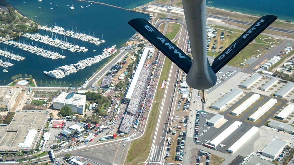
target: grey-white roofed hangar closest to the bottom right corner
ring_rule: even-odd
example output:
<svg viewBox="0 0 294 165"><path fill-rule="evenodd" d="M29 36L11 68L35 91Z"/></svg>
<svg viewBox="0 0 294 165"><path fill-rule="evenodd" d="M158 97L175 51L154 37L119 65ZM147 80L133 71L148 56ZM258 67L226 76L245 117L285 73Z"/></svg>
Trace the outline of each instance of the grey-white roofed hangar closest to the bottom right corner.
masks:
<svg viewBox="0 0 294 165"><path fill-rule="evenodd" d="M270 144L265 146L263 150L261 150L262 155L271 159L275 159L280 154L280 152L283 151L286 144L287 142L275 139L270 142Z"/></svg>

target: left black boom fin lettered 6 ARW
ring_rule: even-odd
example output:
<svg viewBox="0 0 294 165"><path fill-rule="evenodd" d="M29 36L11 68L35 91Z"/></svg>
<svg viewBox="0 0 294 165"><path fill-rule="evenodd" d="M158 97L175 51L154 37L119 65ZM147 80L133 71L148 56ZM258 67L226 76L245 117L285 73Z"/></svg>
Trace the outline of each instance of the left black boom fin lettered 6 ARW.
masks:
<svg viewBox="0 0 294 165"><path fill-rule="evenodd" d="M192 65L191 58L180 48L175 46L172 41L167 39L148 21L143 18L135 18L130 20L128 23L165 56L167 56L167 58L180 67L180 69L182 69L185 73L189 72Z"/></svg>

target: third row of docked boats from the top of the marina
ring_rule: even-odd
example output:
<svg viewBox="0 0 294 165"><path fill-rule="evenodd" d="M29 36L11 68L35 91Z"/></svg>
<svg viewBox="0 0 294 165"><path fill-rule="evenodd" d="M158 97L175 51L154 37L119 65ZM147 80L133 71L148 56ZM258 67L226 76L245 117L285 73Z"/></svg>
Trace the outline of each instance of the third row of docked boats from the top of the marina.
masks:
<svg viewBox="0 0 294 165"><path fill-rule="evenodd" d="M17 47L19 49L22 49L24 51L28 51L30 53L35 53L36 55L40 55L45 58L51 58L52 60L58 59L58 58L65 58L65 56L60 55L57 52L52 52L49 50L43 50L42 48L36 47L36 46L31 46L31 45L26 45L24 43L19 43L16 41L5 41L3 42L6 45L14 45L14 47Z"/></svg>

